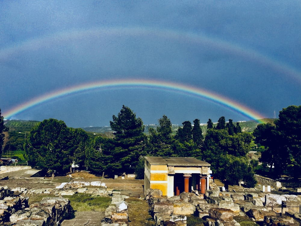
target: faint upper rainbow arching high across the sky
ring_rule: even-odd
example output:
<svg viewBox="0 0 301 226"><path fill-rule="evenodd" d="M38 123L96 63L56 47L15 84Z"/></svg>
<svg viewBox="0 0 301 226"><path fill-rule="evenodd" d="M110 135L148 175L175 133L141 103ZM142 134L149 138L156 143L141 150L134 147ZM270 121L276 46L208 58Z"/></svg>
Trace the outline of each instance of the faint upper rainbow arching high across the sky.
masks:
<svg viewBox="0 0 301 226"><path fill-rule="evenodd" d="M57 43L60 42L68 42L70 40L78 39L90 39L92 37L101 39L106 38L107 36L153 36L168 40L175 40L178 42L211 46L221 51L228 52L229 54L241 56L257 64L270 67L272 70L282 74L283 76L291 77L301 84L301 72L299 70L256 50L201 33L195 34L175 30L160 30L150 27L98 27L86 30L69 30L66 32L54 33L48 36L20 42L19 44L11 47L0 49L0 61L5 61L6 59L11 58L11 56L14 54L22 53L24 51L35 51L41 48L48 48L57 45Z"/></svg>

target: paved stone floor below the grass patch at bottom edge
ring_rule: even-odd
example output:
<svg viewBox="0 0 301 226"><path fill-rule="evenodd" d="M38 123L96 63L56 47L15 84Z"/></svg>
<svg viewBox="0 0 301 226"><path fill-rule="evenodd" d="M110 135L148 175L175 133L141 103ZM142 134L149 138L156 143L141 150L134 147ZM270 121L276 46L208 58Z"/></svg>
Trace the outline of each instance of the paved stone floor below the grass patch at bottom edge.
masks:
<svg viewBox="0 0 301 226"><path fill-rule="evenodd" d="M82 225L101 225L101 220L104 218L104 212L85 211L75 212L75 218L64 220L61 226L82 226Z"/></svg>

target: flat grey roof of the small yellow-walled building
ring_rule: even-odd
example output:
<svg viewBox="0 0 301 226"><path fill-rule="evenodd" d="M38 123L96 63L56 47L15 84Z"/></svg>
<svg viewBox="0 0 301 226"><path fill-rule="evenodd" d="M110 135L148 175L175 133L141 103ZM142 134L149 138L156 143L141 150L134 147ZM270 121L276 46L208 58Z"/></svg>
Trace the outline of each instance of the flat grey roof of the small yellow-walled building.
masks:
<svg viewBox="0 0 301 226"><path fill-rule="evenodd" d="M210 166L208 162L191 157L144 157L151 165Z"/></svg>

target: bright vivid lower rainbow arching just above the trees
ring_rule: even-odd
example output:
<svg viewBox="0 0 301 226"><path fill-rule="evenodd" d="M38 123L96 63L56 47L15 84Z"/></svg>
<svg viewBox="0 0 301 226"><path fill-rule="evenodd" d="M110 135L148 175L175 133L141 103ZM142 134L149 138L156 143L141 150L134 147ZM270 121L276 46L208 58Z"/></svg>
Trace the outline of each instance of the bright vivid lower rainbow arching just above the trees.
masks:
<svg viewBox="0 0 301 226"><path fill-rule="evenodd" d="M65 89L60 89L45 95L39 96L37 98L31 99L28 102L20 104L8 111L3 112L3 117L5 119L10 119L12 116L17 115L28 108L32 108L43 102L47 102L58 97L63 97L69 94L79 93L82 91L92 90L92 89L104 89L104 88L123 88L123 87L148 87L156 89L165 89L174 92L182 92L184 94L203 97L207 100L211 100L214 103L220 104L226 108L230 108L250 119L260 121L260 119L266 118L260 115L256 111L247 108L231 99L220 96L216 93L209 92L205 89L200 89L194 86L183 85L174 82L160 81L160 80L141 80L141 79L123 79L123 80L103 80L91 83L85 83L77 86L68 87Z"/></svg>

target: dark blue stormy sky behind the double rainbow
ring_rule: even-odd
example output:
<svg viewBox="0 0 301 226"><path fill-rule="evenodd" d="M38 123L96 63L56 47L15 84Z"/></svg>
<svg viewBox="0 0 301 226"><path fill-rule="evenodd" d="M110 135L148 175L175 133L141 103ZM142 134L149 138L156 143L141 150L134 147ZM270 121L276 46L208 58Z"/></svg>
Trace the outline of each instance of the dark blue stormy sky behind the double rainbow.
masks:
<svg viewBox="0 0 301 226"><path fill-rule="evenodd" d="M85 83L161 80L206 89L267 118L301 101L301 1L0 1L0 108ZM122 105L144 124L250 120L206 98L115 87L11 119L105 126Z"/></svg>

